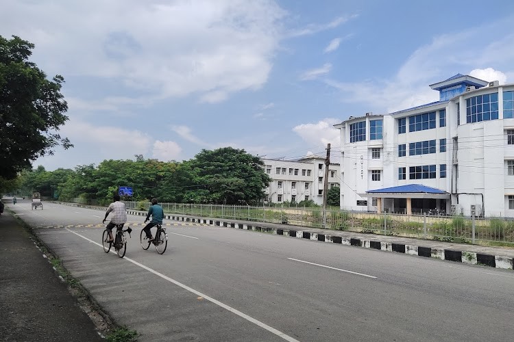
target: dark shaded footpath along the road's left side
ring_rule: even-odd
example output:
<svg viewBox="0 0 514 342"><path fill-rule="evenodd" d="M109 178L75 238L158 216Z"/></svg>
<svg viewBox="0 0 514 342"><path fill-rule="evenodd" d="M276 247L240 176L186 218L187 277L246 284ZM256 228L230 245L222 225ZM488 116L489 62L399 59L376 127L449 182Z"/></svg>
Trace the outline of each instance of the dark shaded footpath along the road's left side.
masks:
<svg viewBox="0 0 514 342"><path fill-rule="evenodd" d="M31 235L0 215L0 341L104 341Z"/></svg>

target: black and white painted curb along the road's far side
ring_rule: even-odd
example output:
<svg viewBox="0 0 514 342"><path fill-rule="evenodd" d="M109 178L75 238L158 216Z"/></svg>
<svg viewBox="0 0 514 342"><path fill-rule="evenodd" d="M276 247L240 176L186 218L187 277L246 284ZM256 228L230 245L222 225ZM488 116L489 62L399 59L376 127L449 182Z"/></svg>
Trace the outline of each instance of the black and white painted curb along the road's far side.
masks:
<svg viewBox="0 0 514 342"><path fill-rule="evenodd" d="M61 203L67 204L67 203ZM89 209L106 210L105 207L92 207L88 205L73 205ZM129 215L145 216L147 213L143 211L127 210ZM167 220L179 222L191 222L197 224L206 224L208 226L221 226L228 228L244 229L247 231L258 231L262 233L271 233L275 235L283 235L287 237L296 237L299 239L309 239L314 241L324 241L332 244L341 244L345 246L356 246L364 248L372 248L375 250L384 250L387 252L399 252L409 255L417 255L419 257L435 258L448 261L456 261L458 263L468 263L472 265L485 265L502 269L514 269L514 261L512 257L504 257L502 255L482 254L477 252L468 252L465 250L450 250L443 248L430 248L417 246L413 244L395 244L393 242L376 241L374 239L363 239L354 237L341 237L339 235L331 235L330 233L320 234L306 230L295 230L294 228L274 228L259 224L243 224L239 222L231 222L227 220L212 220L205 218L191 218L184 215L165 215Z"/></svg>

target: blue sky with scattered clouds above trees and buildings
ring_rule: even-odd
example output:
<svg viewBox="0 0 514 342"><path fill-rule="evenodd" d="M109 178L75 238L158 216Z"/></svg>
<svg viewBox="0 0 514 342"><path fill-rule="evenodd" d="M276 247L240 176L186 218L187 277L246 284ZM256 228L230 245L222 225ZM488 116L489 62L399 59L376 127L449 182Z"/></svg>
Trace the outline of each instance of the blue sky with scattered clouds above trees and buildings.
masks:
<svg viewBox="0 0 514 342"><path fill-rule="evenodd" d="M0 36L62 75L74 147L34 168L326 155L333 125L439 99L457 73L514 83L514 1L2 0Z"/></svg>

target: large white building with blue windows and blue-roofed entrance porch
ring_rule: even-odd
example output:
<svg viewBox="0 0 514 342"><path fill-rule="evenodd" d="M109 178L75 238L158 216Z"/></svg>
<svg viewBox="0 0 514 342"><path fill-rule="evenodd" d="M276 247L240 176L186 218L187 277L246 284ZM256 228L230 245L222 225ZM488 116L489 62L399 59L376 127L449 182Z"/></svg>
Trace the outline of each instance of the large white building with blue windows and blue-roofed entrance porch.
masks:
<svg viewBox="0 0 514 342"><path fill-rule="evenodd" d="M514 84L455 75L439 101L336 124L341 208L514 216Z"/></svg>

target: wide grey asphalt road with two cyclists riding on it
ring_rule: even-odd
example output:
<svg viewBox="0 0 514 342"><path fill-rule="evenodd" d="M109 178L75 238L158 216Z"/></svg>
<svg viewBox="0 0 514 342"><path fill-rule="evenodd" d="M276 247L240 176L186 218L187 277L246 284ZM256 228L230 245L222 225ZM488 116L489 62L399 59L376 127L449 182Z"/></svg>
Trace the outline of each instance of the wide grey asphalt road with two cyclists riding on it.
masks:
<svg viewBox="0 0 514 342"><path fill-rule="evenodd" d="M514 272L233 228L178 224L119 259L105 212L10 206L140 341L511 341ZM175 223L175 222L169 222ZM90 225L90 226L85 226Z"/></svg>

